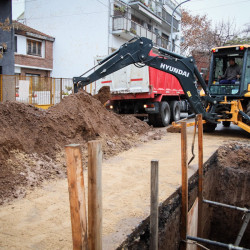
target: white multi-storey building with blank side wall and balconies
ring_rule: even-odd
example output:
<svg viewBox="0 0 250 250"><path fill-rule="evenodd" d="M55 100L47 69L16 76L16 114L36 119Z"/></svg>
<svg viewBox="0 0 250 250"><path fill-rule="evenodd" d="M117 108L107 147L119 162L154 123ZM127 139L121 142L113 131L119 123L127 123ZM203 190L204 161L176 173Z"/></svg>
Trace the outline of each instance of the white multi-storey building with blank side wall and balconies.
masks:
<svg viewBox="0 0 250 250"><path fill-rule="evenodd" d="M25 2L25 24L52 37L51 76L72 78L93 67L134 36L170 49L171 0L36 0ZM179 53L181 14L173 18L173 49Z"/></svg>

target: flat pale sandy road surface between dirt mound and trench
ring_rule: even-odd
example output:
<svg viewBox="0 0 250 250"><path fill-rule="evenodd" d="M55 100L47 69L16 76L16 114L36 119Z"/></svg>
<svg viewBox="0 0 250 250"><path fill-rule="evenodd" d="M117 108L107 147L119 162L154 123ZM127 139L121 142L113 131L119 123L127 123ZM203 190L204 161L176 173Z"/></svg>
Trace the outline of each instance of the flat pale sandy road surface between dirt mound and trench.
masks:
<svg viewBox="0 0 250 250"><path fill-rule="evenodd" d="M189 158L192 136L189 128ZM232 141L249 143L249 137L236 127L205 134L204 161ZM166 133L161 140L145 142L103 162L103 249L115 249L149 215L150 161L159 160L159 202L163 202L180 186L180 156L180 134ZM196 150L189 175L197 162ZM0 248L72 249L67 185L67 179L46 182L25 198L1 206Z"/></svg>

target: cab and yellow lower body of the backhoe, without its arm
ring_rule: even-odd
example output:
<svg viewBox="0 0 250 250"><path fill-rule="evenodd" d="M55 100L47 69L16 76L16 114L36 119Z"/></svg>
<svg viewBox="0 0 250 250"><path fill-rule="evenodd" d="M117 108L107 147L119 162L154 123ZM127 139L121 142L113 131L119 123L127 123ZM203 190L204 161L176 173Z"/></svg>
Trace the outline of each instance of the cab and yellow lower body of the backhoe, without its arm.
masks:
<svg viewBox="0 0 250 250"><path fill-rule="evenodd" d="M222 81L221 76L225 74L230 59L238 65L235 71L240 77L235 75L233 80L230 78ZM207 111L216 113L219 117L217 121L222 122L225 127L234 123L250 133L250 45L212 49L208 89L217 104L208 106ZM208 131L213 131L216 127L214 124L206 126Z"/></svg>

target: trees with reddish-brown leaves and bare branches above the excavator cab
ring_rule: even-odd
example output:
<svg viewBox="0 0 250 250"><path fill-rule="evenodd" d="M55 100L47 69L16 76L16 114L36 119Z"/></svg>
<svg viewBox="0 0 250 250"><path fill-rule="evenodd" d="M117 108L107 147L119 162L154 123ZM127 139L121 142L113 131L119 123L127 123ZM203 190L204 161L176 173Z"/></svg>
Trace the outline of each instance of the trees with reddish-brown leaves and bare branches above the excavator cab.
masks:
<svg viewBox="0 0 250 250"><path fill-rule="evenodd" d="M250 43L250 23L243 29L237 28L235 20L220 21L212 27L206 15L192 16L182 10L181 52L186 56L197 53L209 53L211 48L224 45Z"/></svg>

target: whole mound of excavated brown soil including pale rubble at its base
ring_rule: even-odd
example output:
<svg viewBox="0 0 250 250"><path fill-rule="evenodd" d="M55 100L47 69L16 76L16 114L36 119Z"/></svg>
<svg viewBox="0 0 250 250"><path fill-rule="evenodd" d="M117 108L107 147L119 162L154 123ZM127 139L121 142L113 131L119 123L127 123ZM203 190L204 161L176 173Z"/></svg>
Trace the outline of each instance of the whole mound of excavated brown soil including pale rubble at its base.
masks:
<svg viewBox="0 0 250 250"><path fill-rule="evenodd" d="M119 116L85 92L44 111L18 102L0 104L0 204L44 179L65 176L63 147L101 139L104 157L129 149L150 127ZM84 155L83 155L84 156ZM60 159L59 159L60 158ZM21 191L20 191L21 190Z"/></svg>

